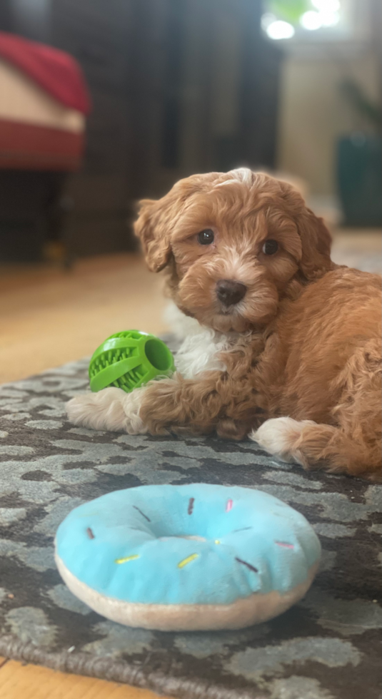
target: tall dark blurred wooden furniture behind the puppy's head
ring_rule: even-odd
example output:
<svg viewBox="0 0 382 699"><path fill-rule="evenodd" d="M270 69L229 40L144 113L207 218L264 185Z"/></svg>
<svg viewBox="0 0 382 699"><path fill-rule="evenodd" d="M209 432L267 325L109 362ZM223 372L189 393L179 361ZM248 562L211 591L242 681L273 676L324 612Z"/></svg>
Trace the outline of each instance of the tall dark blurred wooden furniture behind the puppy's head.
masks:
<svg viewBox="0 0 382 699"><path fill-rule="evenodd" d="M272 167L280 55L261 0L2 0L0 26L69 51L93 111L70 178L76 255L134 247L134 202L181 176ZM1 217L1 210L0 210Z"/></svg>

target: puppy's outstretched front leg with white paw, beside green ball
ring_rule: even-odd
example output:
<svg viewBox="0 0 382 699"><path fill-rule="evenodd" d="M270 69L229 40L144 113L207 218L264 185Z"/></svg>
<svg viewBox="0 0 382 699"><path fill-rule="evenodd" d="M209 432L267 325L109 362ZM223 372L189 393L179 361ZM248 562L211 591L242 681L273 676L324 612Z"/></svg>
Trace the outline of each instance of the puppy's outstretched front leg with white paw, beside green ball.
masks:
<svg viewBox="0 0 382 699"><path fill-rule="evenodd" d="M125 393L106 388L71 399L67 412L71 422L129 434L168 434L190 432L208 434L216 430L221 437L243 439L256 422L251 387L248 396L239 386L236 393L223 372L208 372L201 379L153 381Z"/></svg>

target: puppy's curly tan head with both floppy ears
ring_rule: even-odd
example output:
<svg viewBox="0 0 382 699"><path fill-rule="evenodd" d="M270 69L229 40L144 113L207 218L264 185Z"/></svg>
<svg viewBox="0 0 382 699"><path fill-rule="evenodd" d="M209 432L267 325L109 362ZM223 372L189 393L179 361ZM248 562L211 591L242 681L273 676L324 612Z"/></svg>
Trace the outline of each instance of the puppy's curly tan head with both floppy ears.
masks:
<svg viewBox="0 0 382 699"><path fill-rule="evenodd" d="M142 201L135 232L179 308L221 332L266 324L293 277L331 268L331 236L301 195L245 168L193 175Z"/></svg>

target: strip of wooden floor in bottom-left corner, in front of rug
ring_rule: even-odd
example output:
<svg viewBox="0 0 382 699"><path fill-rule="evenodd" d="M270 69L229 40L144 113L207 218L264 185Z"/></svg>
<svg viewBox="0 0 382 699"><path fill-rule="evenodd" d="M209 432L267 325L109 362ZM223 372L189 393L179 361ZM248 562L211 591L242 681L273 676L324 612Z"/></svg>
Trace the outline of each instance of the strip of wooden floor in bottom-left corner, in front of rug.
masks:
<svg viewBox="0 0 382 699"><path fill-rule="evenodd" d="M1 699L157 699L148 690L67 675L9 660L0 668Z"/></svg>

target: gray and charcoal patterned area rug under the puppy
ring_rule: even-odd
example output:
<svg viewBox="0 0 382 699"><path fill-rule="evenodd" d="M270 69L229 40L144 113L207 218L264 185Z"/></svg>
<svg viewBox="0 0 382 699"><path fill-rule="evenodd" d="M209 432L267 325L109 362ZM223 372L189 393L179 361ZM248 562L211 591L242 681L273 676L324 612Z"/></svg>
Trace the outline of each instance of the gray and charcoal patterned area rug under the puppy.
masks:
<svg viewBox="0 0 382 699"><path fill-rule="evenodd" d="M251 442L92 432L66 421L87 362L0 389L0 655L151 688L179 699L380 697L381 489L306 474ZM323 546L306 598L244 631L126 628L71 595L54 565L60 521L141 484L239 485L301 511Z"/></svg>

